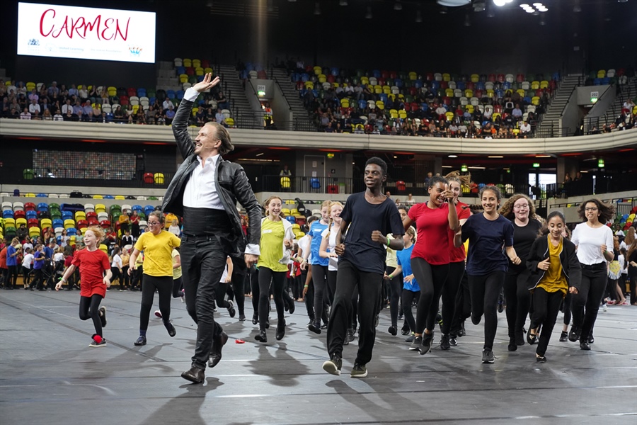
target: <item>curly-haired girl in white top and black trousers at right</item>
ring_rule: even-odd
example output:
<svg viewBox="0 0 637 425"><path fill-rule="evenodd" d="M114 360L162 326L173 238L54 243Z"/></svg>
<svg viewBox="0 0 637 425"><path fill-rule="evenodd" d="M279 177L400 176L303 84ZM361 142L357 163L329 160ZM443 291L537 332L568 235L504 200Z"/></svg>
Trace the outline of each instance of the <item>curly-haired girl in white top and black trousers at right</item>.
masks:
<svg viewBox="0 0 637 425"><path fill-rule="evenodd" d="M573 230L572 242L582 266L582 283L573 297L573 327L568 339L579 339L580 348L590 350L592 329L607 285L607 261L614 259L613 232L606 223L613 220L615 208L592 198L581 203L578 214L584 222Z"/></svg>

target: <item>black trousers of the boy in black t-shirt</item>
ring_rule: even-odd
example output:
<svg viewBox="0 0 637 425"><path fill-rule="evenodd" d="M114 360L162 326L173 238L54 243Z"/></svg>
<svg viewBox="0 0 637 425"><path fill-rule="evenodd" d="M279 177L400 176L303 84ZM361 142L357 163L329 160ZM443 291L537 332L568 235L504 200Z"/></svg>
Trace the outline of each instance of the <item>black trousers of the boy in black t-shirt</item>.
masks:
<svg viewBox="0 0 637 425"><path fill-rule="evenodd" d="M338 262L336 293L328 324L327 346L330 356L343 356L343 341L347 337L352 317L352 295L358 288L358 353L355 363L366 365L372 360L376 339L375 316L381 294L381 273L360 271L350 261Z"/></svg>

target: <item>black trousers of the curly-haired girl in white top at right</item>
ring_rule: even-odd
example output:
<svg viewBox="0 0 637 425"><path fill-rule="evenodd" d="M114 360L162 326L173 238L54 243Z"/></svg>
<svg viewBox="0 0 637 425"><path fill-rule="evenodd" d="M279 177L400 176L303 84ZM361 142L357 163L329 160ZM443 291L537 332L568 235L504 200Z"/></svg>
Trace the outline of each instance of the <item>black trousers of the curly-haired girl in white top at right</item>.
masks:
<svg viewBox="0 0 637 425"><path fill-rule="evenodd" d="M573 297L573 327L580 331L580 342L588 341L595 326L599 304L602 302L607 285L607 271L604 264L597 269L582 264L580 290Z"/></svg>

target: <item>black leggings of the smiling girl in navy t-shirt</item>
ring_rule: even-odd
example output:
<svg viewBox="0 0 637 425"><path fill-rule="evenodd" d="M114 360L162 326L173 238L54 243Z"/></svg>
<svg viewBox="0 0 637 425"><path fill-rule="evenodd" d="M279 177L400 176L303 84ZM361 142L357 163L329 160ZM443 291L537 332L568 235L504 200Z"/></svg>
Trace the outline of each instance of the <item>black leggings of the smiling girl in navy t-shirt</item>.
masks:
<svg viewBox="0 0 637 425"><path fill-rule="evenodd" d="M492 271L481 276L469 275L471 293L471 322L480 323L484 314L484 348L493 348L498 329L498 297L504 280L503 271Z"/></svg>

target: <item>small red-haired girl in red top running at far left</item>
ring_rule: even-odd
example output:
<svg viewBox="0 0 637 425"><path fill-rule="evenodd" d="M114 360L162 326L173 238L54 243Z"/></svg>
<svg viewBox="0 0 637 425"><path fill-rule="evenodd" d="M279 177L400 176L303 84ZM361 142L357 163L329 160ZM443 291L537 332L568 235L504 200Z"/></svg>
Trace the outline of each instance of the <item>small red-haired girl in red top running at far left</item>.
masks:
<svg viewBox="0 0 637 425"><path fill-rule="evenodd" d="M55 290L62 289L67 279L75 268L79 267L81 273L80 308L79 317L82 320L93 319L95 334L89 347L106 346L106 340L102 335L102 328L106 326L106 309L100 307L102 298L106 295L106 288L110 286L110 271L108 256L99 249L101 239L104 237L102 229L96 226L88 227L84 234L86 249L76 251L71 266L64 271L64 276Z"/></svg>

